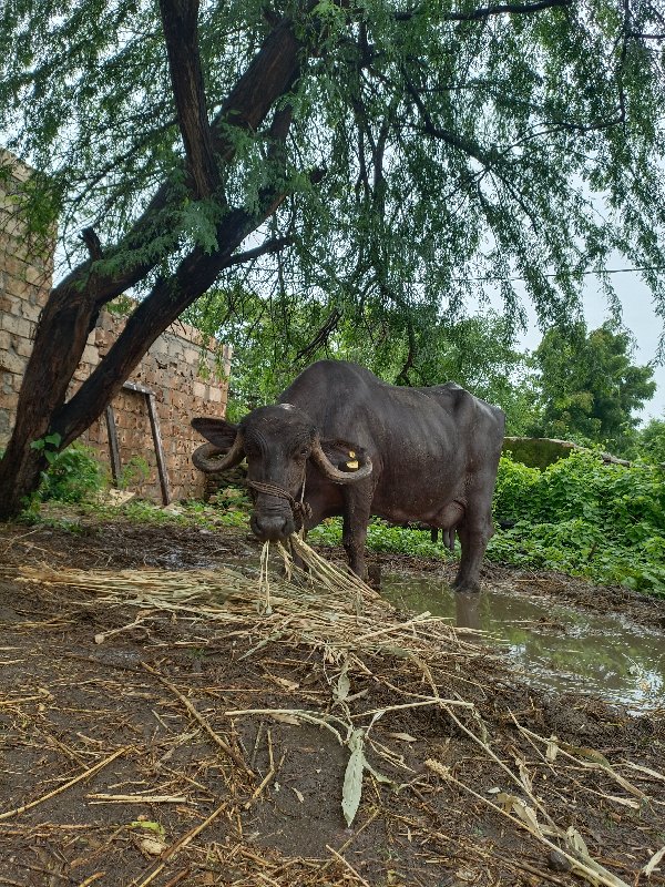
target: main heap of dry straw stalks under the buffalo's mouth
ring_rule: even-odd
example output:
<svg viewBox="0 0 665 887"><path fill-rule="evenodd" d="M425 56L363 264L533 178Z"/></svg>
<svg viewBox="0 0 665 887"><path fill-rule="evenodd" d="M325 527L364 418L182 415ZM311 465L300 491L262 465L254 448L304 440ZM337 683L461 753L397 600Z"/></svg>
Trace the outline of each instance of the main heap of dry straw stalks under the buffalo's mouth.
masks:
<svg viewBox="0 0 665 887"><path fill-rule="evenodd" d="M298 537L298 555L309 568L295 567L279 547L286 577L268 572L267 543L258 580L232 567L212 570L63 570L23 567L4 570L20 582L71 587L95 595L98 604L168 612L180 619L218 624L236 635L258 639L249 656L268 641L304 643L340 662L349 653L419 657L438 661L454 655L488 656L462 638L447 618L421 613L402 621L376 591L349 571L324 560ZM150 615L141 613L126 625L99 633L98 643L123 631L141 628ZM479 632L482 634L482 632Z"/></svg>

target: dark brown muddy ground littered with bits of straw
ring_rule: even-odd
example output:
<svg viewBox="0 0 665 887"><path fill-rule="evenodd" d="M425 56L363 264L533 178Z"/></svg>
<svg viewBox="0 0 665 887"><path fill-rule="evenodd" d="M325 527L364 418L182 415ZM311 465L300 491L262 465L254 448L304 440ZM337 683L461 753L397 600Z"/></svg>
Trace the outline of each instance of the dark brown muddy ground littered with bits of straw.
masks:
<svg viewBox="0 0 665 887"><path fill-rule="evenodd" d="M348 666L345 711L366 727L372 715L360 715L390 708L366 747L391 782L365 772L349 828L349 748L331 731L227 714L334 714L330 651L306 638L256 644L156 611L105 634L136 610L18 575L27 565L209 569L257 554L233 530L0 528L0 887L581 884L553 850L570 827L615 884L665 885L665 859L642 871L665 846L663 711L631 717L598 699L540 692L489 651L454 644L430 664L366 654ZM665 626L665 601L618 589L494 565L484 580ZM460 707L413 704L432 693ZM539 807L545 840L520 826L520 801Z"/></svg>

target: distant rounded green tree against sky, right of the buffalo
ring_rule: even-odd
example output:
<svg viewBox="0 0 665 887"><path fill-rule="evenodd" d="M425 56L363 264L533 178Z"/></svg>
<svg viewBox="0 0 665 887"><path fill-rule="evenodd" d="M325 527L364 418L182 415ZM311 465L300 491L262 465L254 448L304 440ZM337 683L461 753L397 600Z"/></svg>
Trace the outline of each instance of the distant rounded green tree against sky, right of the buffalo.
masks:
<svg viewBox="0 0 665 887"><path fill-rule="evenodd" d="M605 323L587 333L584 322L550 329L534 353L542 415L531 432L630 447L636 410L655 390L651 366L632 363L625 330Z"/></svg>

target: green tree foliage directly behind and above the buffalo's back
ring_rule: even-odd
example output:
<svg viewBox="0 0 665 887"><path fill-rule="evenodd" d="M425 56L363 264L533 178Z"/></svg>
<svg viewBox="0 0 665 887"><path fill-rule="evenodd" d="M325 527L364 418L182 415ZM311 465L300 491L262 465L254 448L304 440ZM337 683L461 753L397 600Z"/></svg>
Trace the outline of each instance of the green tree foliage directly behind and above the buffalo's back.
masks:
<svg viewBox="0 0 665 887"><path fill-rule="evenodd" d="M399 314L358 325L317 302L300 306L286 299L285 305L280 298L260 298L242 289L213 289L185 318L208 337L217 335L233 344L227 409L234 419L274 402L294 374L314 359L354 360L386 381L408 381L403 367L410 337ZM415 384L454 380L478 397L501 404L507 434L525 434L540 417L531 360L516 349L509 322L493 310L451 324L432 318L427 341L418 343L418 360L410 369Z"/></svg>

